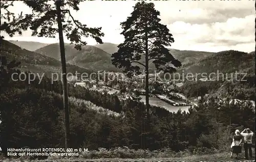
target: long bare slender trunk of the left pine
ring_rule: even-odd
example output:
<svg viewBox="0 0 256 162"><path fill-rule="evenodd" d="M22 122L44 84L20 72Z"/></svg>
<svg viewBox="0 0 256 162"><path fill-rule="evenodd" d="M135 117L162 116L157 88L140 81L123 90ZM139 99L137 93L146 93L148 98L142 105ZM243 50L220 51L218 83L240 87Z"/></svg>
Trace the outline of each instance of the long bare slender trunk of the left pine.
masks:
<svg viewBox="0 0 256 162"><path fill-rule="evenodd" d="M65 58L65 46L63 40L62 20L61 20L61 1L57 1L57 21L59 30L59 48L60 58L62 65L62 83L63 83L63 106L65 111L65 148L69 147L70 141L70 124L69 124L69 98L68 98L68 82L67 82L67 69L66 69L66 58Z"/></svg>

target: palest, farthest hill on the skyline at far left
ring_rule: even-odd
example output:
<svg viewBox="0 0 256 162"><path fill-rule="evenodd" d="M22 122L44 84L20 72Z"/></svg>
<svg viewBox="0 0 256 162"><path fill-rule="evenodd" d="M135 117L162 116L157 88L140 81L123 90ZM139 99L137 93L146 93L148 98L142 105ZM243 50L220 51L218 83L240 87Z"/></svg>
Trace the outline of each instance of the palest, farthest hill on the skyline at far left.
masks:
<svg viewBox="0 0 256 162"><path fill-rule="evenodd" d="M35 51L37 49L40 49L48 45L48 43L40 43L36 41L16 41L16 40L8 40L8 41L17 45L18 47L21 47L29 51Z"/></svg>

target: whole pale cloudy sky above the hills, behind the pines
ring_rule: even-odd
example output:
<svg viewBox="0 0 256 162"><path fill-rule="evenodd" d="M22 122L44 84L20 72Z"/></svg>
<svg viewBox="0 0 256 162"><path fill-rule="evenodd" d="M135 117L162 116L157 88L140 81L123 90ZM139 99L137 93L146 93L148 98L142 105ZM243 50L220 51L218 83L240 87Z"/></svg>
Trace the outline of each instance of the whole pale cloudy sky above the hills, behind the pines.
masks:
<svg viewBox="0 0 256 162"><path fill-rule="evenodd" d="M103 42L119 44L124 38L120 22L131 15L138 1L85 1L79 11L71 11L73 17L89 27L102 27ZM167 25L175 42L172 49L219 52L238 50L251 52L255 49L255 1L147 1L155 4L160 12L161 23ZM15 2L11 12L31 13L22 2ZM31 31L6 40L58 42L57 38L31 37ZM57 35L56 35L57 36ZM96 44L92 38L83 38L88 44ZM65 42L69 42L65 38Z"/></svg>

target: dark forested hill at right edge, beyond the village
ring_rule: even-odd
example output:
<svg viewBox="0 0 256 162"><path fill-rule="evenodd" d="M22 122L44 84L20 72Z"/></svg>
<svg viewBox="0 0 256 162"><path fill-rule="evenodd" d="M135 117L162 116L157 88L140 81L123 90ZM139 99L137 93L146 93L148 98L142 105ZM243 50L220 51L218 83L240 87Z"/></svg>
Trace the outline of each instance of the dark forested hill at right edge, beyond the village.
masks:
<svg viewBox="0 0 256 162"><path fill-rule="evenodd" d="M193 65L184 65L178 73L184 73L184 76L192 73L194 80L205 77L211 79L191 81L191 78L185 78L187 81L179 90L187 97L197 98L208 94L209 97L254 100L256 96L254 52L222 51Z"/></svg>

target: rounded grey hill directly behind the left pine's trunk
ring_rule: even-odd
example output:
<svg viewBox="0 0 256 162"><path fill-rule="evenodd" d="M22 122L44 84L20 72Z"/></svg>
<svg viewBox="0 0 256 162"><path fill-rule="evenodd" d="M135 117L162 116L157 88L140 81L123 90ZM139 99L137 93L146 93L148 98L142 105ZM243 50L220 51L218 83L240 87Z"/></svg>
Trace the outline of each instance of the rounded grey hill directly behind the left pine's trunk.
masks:
<svg viewBox="0 0 256 162"><path fill-rule="evenodd" d="M92 71L106 70L119 71L111 62L111 55L92 45L84 45L81 51L75 45L65 43L66 61L81 67L90 68ZM35 52L60 60L59 44L54 43L40 48Z"/></svg>

